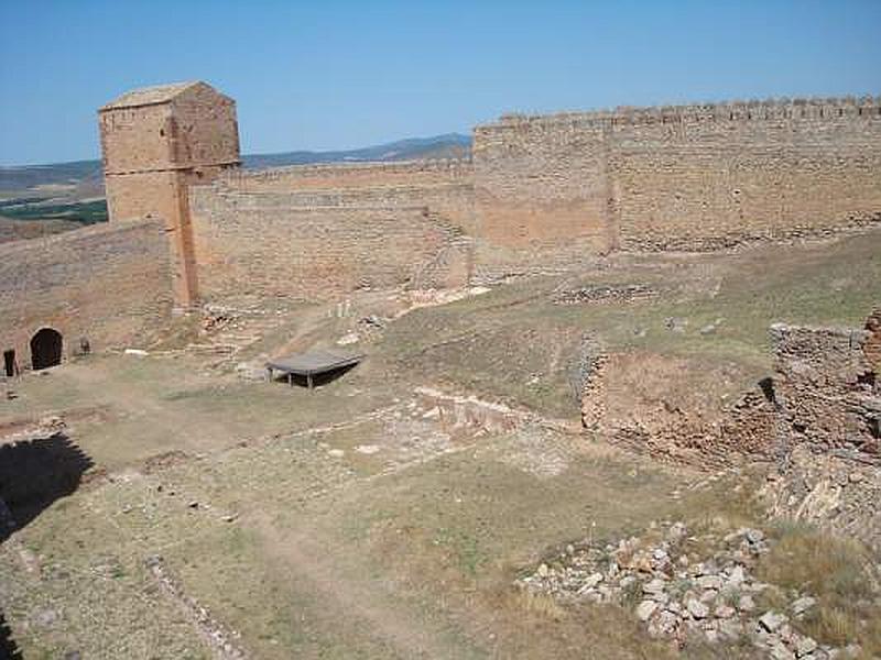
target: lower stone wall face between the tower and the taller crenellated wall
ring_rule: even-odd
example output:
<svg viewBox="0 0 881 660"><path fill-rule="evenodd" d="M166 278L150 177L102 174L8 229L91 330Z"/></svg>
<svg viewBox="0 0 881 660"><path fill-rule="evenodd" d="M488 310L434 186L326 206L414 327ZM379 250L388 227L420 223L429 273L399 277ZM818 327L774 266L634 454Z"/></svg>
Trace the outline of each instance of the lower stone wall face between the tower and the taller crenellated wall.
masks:
<svg viewBox="0 0 881 660"><path fill-rule="evenodd" d="M424 207L294 207L272 196L218 195L213 187L194 187L192 201L199 279L209 301L320 300L406 285L460 237ZM465 284L467 273L460 277Z"/></svg>

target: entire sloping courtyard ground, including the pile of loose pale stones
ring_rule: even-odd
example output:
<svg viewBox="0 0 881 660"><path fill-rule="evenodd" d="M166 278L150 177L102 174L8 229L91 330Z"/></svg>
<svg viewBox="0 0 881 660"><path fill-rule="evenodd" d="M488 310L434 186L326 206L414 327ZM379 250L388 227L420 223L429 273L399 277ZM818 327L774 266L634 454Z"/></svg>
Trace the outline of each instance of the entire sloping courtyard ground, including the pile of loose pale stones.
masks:
<svg viewBox="0 0 881 660"><path fill-rule="evenodd" d="M6 625L26 658L881 657L878 554L850 515L873 479L713 481L581 432L574 396L600 346L622 356L605 369L633 367L610 410L675 421L737 402L771 369L772 322L864 319L880 245L621 255L456 296L246 298L28 374L0 388L0 446L65 479L0 487L17 522L0 650ZM368 358L314 391L265 382L267 356L337 344ZM33 436L53 417L65 428ZM824 516L781 531L741 503L759 484L782 515Z"/></svg>

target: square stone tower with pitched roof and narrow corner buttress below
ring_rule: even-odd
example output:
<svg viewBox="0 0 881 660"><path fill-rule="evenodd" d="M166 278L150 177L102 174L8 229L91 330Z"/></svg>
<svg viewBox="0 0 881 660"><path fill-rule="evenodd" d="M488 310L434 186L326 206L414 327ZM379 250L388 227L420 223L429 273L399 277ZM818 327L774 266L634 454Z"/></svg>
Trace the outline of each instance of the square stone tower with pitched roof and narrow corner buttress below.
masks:
<svg viewBox="0 0 881 660"><path fill-rule="evenodd" d="M198 300L188 188L239 165L236 102L205 82L144 87L98 110L110 221L159 218L178 308Z"/></svg>

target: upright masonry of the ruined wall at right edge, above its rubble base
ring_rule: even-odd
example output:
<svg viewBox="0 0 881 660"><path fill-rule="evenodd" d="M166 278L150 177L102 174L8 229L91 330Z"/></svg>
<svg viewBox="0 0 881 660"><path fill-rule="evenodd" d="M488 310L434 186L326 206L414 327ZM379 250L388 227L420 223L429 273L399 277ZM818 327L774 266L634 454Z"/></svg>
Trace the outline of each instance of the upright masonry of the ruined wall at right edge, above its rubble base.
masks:
<svg viewBox="0 0 881 660"><path fill-rule="evenodd" d="M771 336L781 451L805 444L881 463L881 383L866 353L870 332L775 324Z"/></svg>

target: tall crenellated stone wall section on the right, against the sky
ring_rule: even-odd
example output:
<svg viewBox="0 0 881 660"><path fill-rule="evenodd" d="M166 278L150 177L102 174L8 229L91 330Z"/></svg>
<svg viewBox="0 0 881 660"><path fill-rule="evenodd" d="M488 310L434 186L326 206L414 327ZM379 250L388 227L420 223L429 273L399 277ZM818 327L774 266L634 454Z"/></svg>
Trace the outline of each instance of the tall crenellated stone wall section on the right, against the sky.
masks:
<svg viewBox="0 0 881 660"><path fill-rule="evenodd" d="M706 250L881 220L881 99L512 116L474 138L490 242Z"/></svg>

